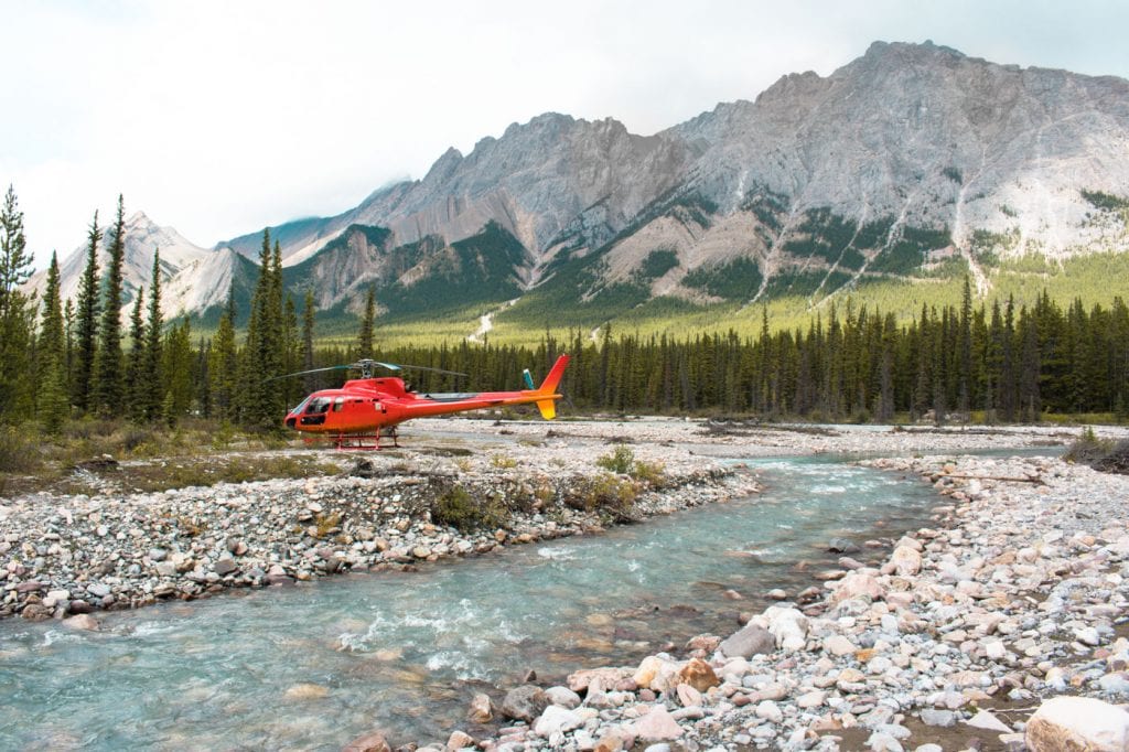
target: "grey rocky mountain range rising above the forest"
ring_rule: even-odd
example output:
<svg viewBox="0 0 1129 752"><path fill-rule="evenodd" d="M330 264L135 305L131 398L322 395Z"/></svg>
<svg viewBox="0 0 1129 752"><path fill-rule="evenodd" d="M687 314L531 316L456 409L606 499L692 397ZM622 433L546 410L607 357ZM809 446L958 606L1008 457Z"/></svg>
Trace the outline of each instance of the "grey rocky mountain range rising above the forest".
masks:
<svg viewBox="0 0 1129 752"><path fill-rule="evenodd" d="M465 304L539 288L590 303L615 286L749 301L911 277L954 255L983 286L1000 259L1129 247L1127 147L1124 79L876 42L828 77L785 76L649 137L539 115L467 155L449 149L422 180L271 234L322 308L375 283L395 313L437 281L487 290ZM143 215L129 233L128 287L159 245L186 312L216 305L237 255L254 259L261 242L208 251ZM64 263L64 295L82 263L81 251Z"/></svg>

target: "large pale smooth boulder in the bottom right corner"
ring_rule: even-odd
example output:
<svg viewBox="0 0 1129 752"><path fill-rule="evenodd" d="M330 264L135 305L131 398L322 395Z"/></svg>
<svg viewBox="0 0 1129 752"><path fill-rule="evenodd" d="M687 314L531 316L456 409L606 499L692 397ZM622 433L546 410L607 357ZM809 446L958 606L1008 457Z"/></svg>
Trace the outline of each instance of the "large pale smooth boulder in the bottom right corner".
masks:
<svg viewBox="0 0 1129 752"><path fill-rule="evenodd" d="M1094 698L1045 700L1027 720L1032 752L1123 752L1129 750L1129 712Z"/></svg>

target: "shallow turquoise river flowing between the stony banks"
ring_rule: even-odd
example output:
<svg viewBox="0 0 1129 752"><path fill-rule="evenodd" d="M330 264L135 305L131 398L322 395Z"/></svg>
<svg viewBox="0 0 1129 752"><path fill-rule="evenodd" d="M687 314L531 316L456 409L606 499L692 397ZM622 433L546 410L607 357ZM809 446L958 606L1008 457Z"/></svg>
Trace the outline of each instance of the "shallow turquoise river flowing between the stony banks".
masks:
<svg viewBox="0 0 1129 752"><path fill-rule="evenodd" d="M937 500L835 458L742 464L763 493L599 535L108 613L98 632L0 622L0 749L339 750L374 728L446 741L475 731L475 691L728 635L768 589L812 585L829 540L898 535Z"/></svg>

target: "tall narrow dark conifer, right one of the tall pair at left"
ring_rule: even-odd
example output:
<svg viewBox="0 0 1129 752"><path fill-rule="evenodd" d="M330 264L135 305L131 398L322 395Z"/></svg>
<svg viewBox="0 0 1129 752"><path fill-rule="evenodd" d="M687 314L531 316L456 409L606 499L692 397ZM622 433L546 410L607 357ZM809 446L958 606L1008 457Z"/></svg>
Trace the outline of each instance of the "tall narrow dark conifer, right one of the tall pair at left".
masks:
<svg viewBox="0 0 1129 752"><path fill-rule="evenodd" d="M122 376L122 265L125 261L125 203L117 195L117 219L110 244L110 264L102 304L102 329L95 353L95 387L91 406L103 414L121 410L125 396Z"/></svg>

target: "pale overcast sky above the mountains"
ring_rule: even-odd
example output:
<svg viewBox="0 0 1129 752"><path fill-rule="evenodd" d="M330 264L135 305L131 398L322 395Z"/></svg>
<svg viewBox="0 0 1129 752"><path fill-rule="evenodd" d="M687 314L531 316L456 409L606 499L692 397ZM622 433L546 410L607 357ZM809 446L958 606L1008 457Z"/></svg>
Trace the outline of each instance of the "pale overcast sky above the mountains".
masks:
<svg viewBox="0 0 1129 752"><path fill-rule="evenodd" d="M211 246L546 111L654 133L875 40L1129 77L1127 35L1113 0L0 0L0 190L40 266L119 193Z"/></svg>

